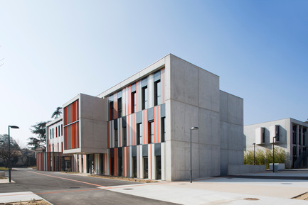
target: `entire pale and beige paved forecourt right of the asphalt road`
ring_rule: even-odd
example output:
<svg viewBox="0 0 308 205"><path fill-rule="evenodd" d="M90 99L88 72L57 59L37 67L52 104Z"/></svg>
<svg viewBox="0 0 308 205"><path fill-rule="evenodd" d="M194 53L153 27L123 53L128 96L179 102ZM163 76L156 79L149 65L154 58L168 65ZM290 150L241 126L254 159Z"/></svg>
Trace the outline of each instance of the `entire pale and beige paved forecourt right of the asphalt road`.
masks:
<svg viewBox="0 0 308 205"><path fill-rule="evenodd" d="M290 177L293 179L289 179ZM308 204L308 201L292 199L308 192L308 178L305 177L308 177L308 170L285 170L197 179L193 183L159 182L96 189L176 204ZM4 200L5 197L1 199Z"/></svg>

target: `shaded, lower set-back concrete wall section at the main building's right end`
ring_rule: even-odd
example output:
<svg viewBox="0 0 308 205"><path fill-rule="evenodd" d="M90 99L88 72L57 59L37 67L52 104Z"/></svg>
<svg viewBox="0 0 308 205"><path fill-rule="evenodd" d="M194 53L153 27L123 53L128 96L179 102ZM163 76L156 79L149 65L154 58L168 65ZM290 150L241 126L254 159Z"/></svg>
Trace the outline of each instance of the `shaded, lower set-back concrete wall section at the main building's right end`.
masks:
<svg viewBox="0 0 308 205"><path fill-rule="evenodd" d="M244 163L243 99L222 91L220 96L221 175L226 175L228 165Z"/></svg>

